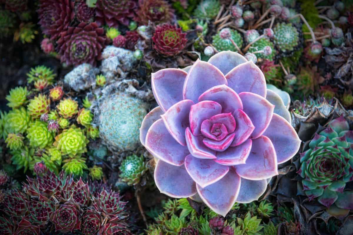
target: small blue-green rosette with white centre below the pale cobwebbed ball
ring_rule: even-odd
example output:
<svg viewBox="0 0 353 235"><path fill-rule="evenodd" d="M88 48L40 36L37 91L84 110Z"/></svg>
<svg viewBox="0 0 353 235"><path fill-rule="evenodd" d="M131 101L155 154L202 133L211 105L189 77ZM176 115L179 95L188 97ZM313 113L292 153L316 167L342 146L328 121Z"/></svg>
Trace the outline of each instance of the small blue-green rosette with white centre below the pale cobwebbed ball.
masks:
<svg viewBox="0 0 353 235"><path fill-rule="evenodd" d="M120 178L128 185L136 185L140 182L141 176L147 171L143 156L131 155L127 156L121 162Z"/></svg>

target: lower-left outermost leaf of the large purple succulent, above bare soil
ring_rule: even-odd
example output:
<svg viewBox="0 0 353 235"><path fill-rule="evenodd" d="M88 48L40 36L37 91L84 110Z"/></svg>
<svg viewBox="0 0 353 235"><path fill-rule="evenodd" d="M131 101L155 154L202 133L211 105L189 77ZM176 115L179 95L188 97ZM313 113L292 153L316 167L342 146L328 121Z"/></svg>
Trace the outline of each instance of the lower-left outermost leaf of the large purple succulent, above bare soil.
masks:
<svg viewBox="0 0 353 235"><path fill-rule="evenodd" d="M196 183L191 179L184 165L173 166L159 160L154 178L159 191L169 197L185 198L197 193Z"/></svg>

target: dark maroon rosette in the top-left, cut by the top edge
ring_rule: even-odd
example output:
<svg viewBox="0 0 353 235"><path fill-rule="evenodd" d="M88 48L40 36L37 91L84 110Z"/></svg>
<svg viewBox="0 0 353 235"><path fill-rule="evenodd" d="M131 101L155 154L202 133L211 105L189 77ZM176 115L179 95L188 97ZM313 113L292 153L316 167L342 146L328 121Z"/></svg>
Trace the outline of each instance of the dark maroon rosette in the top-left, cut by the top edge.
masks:
<svg viewBox="0 0 353 235"><path fill-rule="evenodd" d="M37 12L43 33L57 39L75 18L74 1L40 0Z"/></svg>

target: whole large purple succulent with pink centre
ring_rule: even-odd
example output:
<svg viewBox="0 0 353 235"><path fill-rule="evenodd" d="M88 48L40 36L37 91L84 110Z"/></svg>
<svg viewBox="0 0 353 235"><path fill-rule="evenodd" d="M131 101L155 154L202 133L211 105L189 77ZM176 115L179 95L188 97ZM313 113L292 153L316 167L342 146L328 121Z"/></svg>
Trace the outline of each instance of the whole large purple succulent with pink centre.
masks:
<svg viewBox="0 0 353 235"><path fill-rule="evenodd" d="M159 159L155 182L170 197L202 200L225 216L235 202L258 199L277 164L299 149L294 128L266 99L278 95L238 53L198 60L188 72L162 69L151 83L159 106L144 118L140 141Z"/></svg>

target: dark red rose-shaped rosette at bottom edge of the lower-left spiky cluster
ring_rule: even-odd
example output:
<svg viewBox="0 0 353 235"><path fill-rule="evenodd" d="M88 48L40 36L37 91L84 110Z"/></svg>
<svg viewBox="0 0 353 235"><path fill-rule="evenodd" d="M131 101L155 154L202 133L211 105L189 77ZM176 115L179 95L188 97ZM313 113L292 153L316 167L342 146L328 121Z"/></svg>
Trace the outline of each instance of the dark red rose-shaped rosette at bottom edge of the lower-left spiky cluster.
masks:
<svg viewBox="0 0 353 235"><path fill-rule="evenodd" d="M50 215L50 221L54 224L55 230L62 233L72 232L80 229L80 206L74 202L65 202L56 205L55 211Z"/></svg>

